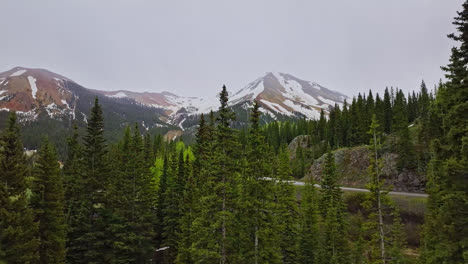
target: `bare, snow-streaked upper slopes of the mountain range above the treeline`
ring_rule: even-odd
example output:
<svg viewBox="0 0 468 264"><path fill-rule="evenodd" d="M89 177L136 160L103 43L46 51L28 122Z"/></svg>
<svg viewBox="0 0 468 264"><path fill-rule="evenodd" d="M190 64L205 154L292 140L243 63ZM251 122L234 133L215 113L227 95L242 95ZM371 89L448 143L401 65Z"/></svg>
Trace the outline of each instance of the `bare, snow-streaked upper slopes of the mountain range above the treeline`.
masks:
<svg viewBox="0 0 468 264"><path fill-rule="evenodd" d="M35 121L39 115L56 120L75 120L79 96L69 88L77 82L46 69L14 67L0 73L0 111L16 111L20 121ZM84 88L90 93L116 101L135 103L159 111L158 119L167 125L180 127L193 115L216 111L217 100L179 96L172 92L135 92L129 90L105 91ZM230 96L231 107L252 107L254 101L262 112L273 119L278 116L318 118L335 104L341 105L348 97L316 82L305 81L291 74L266 72Z"/></svg>

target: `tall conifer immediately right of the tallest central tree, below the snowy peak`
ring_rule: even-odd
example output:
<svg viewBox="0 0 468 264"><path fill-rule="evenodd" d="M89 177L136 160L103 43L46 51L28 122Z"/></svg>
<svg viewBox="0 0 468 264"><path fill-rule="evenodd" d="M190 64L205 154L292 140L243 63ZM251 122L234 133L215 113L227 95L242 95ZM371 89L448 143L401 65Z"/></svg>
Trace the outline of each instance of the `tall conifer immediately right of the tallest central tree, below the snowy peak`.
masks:
<svg viewBox="0 0 468 264"><path fill-rule="evenodd" d="M241 180L238 216L241 226L240 258L250 263L278 263L278 232L275 219L274 181L271 168L272 155L260 130L258 103L250 116L251 126L246 147L245 170Z"/></svg>

